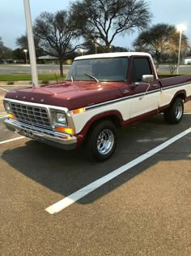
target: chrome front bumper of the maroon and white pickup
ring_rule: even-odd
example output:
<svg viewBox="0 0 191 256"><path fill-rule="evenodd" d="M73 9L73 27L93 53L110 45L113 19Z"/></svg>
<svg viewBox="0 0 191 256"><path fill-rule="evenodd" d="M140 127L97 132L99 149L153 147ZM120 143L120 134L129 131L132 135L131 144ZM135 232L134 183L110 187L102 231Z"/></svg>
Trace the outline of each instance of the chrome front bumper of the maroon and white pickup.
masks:
<svg viewBox="0 0 191 256"><path fill-rule="evenodd" d="M77 147L77 138L70 137L62 132L55 132L45 128L36 128L28 124L23 124L15 119L4 121L6 128L12 132L17 132L22 136L29 137L35 141L53 145L63 150L73 150Z"/></svg>

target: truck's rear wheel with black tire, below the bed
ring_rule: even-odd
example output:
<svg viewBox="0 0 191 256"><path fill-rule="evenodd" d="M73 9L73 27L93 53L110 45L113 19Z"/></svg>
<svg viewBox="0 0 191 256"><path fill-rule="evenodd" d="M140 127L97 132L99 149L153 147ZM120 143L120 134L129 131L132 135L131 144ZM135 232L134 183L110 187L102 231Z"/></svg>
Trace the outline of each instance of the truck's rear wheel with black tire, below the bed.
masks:
<svg viewBox="0 0 191 256"><path fill-rule="evenodd" d="M184 114L184 104L181 98L176 98L172 105L163 113L164 119L168 124L180 123Z"/></svg>

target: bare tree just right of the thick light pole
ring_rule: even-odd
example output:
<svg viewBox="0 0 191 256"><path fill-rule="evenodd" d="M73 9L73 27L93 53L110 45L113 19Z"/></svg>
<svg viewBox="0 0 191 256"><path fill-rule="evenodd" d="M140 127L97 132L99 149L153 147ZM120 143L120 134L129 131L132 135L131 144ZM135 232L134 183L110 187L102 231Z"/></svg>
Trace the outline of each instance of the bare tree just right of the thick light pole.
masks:
<svg viewBox="0 0 191 256"><path fill-rule="evenodd" d="M45 53L59 59L60 75L63 76L62 65L66 54L70 54L81 46L81 44L71 45L71 41L79 37L79 33L77 33L70 12L41 13L35 20L33 31L39 38L39 46Z"/></svg>

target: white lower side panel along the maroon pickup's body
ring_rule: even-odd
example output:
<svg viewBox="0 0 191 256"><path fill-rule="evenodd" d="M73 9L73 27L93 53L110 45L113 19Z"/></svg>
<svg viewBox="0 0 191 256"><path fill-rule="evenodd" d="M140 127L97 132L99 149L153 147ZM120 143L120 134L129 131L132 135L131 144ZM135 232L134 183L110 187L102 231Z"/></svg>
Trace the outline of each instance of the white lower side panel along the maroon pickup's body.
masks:
<svg viewBox="0 0 191 256"><path fill-rule="evenodd" d="M165 90L158 90L156 93L146 93L146 95L137 95L137 97L127 97L119 102L108 102L108 105L95 106L92 109L86 109L85 112L72 115L75 126L75 133L82 131L87 122L94 116L106 111L118 111L124 121L144 115L150 111L155 111L159 107L167 106L178 90L185 90L186 95L191 96L191 84L172 87Z"/></svg>

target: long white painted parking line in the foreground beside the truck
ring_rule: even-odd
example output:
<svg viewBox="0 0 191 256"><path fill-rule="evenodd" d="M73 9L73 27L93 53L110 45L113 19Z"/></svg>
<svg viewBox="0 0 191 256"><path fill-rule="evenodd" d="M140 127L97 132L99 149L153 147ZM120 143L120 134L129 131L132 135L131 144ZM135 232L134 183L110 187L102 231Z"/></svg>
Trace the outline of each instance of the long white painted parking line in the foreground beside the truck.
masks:
<svg viewBox="0 0 191 256"><path fill-rule="evenodd" d="M79 189L78 191L72 193L69 197L66 197L61 201L54 203L52 206L47 207L45 210L48 211L51 215L58 213L59 211L65 209L74 202L79 201L79 199L85 197L88 193L91 193L95 189L100 188L100 186L107 183L109 180L112 180L115 177L121 175L121 173L128 171L130 168L138 165L138 163L142 163L147 158L151 158L151 156L165 149L166 147L168 147L168 145L171 145L173 142L179 140L181 137L184 137L185 135L189 134L189 132L191 132L191 128L185 130L185 132L181 132L180 134L176 135L176 137L172 137L172 139L155 147L155 149L148 151L146 154L142 154L140 157L135 158L133 161L125 164L124 166L118 168L117 170L110 172L108 175L103 176L99 180L96 180L91 184L88 184L87 186L83 187L83 189Z"/></svg>

